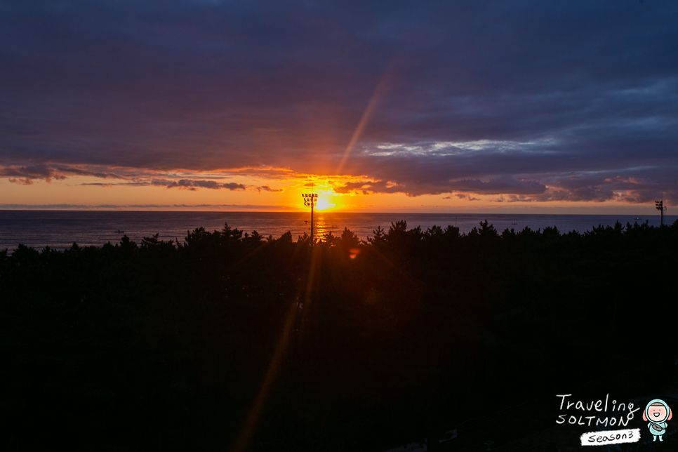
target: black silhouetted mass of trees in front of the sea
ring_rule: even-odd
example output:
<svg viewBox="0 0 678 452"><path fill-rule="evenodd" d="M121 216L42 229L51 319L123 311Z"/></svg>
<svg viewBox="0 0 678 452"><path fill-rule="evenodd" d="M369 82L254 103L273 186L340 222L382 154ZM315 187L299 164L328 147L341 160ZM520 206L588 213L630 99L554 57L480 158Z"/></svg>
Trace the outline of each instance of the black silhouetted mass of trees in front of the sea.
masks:
<svg viewBox="0 0 678 452"><path fill-rule="evenodd" d="M540 397L512 430L550 427L555 394L675 380L677 251L678 222L19 246L0 446L376 452Z"/></svg>

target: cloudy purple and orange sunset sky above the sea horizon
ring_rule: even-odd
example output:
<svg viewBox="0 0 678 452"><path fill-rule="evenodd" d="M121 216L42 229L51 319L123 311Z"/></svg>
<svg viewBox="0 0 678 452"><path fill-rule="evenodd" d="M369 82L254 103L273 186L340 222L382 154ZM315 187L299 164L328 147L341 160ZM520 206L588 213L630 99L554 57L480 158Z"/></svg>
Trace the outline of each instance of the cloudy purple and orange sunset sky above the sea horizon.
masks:
<svg viewBox="0 0 678 452"><path fill-rule="evenodd" d="M0 208L653 213L678 2L0 0Z"/></svg>

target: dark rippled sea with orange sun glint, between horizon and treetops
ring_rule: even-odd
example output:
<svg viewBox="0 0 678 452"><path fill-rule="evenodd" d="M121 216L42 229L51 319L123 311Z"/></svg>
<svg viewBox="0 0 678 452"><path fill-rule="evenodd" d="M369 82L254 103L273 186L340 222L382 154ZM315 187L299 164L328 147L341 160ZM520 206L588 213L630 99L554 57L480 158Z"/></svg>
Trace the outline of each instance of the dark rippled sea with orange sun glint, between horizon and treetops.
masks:
<svg viewBox="0 0 678 452"><path fill-rule="evenodd" d="M678 219L666 215L665 224ZM232 228L277 238L287 231L297 239L304 232L310 234L310 213L284 212L158 212L158 211L0 211L0 250L12 251L19 244L42 249L50 246L58 250L79 246L102 246L110 241L116 244L127 235L139 243L143 237L159 234L162 240L183 241L187 232L198 227L208 231L221 230L225 223ZM505 229L532 230L557 227L560 232L585 232L598 225L614 225L619 221L648 221L659 225L659 215L634 220L633 215L533 215L483 213L321 213L314 218L317 237L332 233L340 235L344 227L360 239L373 236L377 227L388 230L391 222L405 220L408 229L420 226L426 230L433 225L453 225L467 233L479 222L488 220L501 232Z"/></svg>

